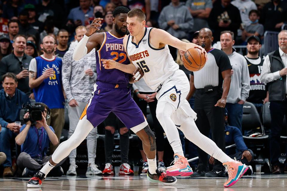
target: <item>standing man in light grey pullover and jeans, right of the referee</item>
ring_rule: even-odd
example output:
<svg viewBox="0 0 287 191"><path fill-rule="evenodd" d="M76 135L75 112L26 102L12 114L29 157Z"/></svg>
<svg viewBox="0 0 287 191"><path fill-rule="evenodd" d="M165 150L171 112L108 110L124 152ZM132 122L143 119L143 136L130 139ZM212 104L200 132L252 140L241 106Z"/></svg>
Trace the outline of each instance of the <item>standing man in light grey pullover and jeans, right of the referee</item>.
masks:
<svg viewBox="0 0 287 191"><path fill-rule="evenodd" d="M234 33L222 31L220 35L222 50L227 54L232 66L230 90L226 100L228 124L242 131L243 104L249 96L250 80L246 59L232 48Z"/></svg>

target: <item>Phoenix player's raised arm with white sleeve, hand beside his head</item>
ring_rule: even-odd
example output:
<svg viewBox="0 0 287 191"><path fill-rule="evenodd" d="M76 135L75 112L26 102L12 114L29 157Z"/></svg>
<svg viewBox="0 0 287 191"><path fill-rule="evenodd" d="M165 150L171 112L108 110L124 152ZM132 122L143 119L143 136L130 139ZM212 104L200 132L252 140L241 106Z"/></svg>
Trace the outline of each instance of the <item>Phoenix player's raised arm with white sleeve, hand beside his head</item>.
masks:
<svg viewBox="0 0 287 191"><path fill-rule="evenodd" d="M88 31L84 35L84 37L80 40L80 42L75 47L73 52L73 59L80 60L87 53L91 52L94 47L97 47L99 44L99 37L102 35L100 33L95 33L97 30L100 30L102 18L94 19L94 21L90 24Z"/></svg>

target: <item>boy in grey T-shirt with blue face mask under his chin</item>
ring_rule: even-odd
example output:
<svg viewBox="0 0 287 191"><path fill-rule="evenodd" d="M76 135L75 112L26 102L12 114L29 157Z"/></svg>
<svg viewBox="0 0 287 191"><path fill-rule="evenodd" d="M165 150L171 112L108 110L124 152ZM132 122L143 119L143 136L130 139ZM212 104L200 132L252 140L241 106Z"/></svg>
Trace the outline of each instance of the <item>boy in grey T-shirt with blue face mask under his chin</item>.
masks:
<svg viewBox="0 0 287 191"><path fill-rule="evenodd" d="M264 35L264 27L262 24L258 23L259 20L259 12L258 10L251 10L249 12L250 24L244 27L242 32L242 40L245 41L250 36L258 36L259 38L263 38Z"/></svg>

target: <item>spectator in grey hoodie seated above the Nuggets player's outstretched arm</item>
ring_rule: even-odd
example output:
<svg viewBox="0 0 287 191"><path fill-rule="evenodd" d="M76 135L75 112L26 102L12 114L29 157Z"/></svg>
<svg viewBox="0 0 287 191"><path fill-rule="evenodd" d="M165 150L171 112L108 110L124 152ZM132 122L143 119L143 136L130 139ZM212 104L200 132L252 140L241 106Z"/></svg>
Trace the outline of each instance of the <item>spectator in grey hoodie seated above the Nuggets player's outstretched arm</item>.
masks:
<svg viewBox="0 0 287 191"><path fill-rule="evenodd" d="M161 11L158 24L162 30L167 31L176 38L188 38L189 32L193 29L193 17L184 3L179 2L179 0L172 0ZM175 59L176 49L170 46L169 48L172 57Z"/></svg>

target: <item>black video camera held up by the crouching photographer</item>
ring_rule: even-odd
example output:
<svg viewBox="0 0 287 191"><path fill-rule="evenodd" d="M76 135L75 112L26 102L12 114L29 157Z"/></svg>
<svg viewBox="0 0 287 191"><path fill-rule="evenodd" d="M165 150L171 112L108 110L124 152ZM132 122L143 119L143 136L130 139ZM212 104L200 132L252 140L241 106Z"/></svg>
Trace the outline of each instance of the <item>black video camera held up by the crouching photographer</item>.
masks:
<svg viewBox="0 0 287 191"><path fill-rule="evenodd" d="M34 105L25 103L22 105L22 108L24 109L24 114L27 112L29 113L29 118L26 118L26 119L23 118L25 123L27 123L28 121L31 121L32 124L36 124L36 121L42 120L42 112L45 111L45 106L42 103L36 103ZM48 110L48 115L49 113L50 113L50 110Z"/></svg>

